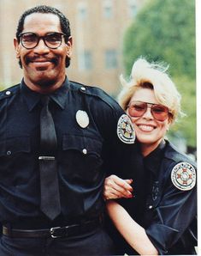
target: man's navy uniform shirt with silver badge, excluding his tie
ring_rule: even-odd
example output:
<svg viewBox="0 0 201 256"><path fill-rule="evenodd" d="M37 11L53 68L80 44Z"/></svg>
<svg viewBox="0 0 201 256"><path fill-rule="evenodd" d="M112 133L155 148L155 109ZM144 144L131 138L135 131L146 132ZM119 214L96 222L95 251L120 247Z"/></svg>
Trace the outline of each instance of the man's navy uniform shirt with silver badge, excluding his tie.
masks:
<svg viewBox="0 0 201 256"><path fill-rule="evenodd" d="M42 229L96 217L103 211L105 175L127 176L133 128L100 88L68 78L50 94L58 148L62 214L49 222L39 210L41 94L16 85L0 93L0 222ZM110 173L109 173L110 172Z"/></svg>

